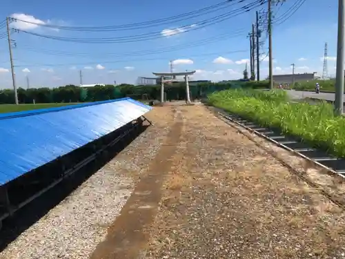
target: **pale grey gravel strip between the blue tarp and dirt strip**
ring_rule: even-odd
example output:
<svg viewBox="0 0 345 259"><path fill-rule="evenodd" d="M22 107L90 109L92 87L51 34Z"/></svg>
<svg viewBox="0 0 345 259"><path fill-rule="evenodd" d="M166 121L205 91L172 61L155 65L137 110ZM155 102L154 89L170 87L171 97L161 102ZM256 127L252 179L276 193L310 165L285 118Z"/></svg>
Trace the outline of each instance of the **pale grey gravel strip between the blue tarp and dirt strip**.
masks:
<svg viewBox="0 0 345 259"><path fill-rule="evenodd" d="M156 122L106 166L1 251L1 259L88 258L107 233L164 141L172 115L151 112Z"/></svg>

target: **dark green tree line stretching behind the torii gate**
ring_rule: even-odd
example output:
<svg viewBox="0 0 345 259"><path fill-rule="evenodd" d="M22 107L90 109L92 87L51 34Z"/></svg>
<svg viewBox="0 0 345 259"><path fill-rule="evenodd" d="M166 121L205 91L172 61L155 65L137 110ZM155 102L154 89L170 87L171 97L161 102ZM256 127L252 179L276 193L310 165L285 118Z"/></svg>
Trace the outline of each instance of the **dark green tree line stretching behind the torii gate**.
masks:
<svg viewBox="0 0 345 259"><path fill-rule="evenodd" d="M190 86L192 99L205 97L217 90L228 88L268 88L267 81L228 81L210 84L197 84ZM186 86L184 83L166 85L166 99L185 99ZM120 84L119 86L93 86L82 88L74 85L60 86L57 88L19 88L17 90L19 104L45 104L61 102L96 102L121 97L133 99L159 99L160 86L145 85L134 86L132 84ZM11 89L0 90L0 104L13 104L14 91Z"/></svg>

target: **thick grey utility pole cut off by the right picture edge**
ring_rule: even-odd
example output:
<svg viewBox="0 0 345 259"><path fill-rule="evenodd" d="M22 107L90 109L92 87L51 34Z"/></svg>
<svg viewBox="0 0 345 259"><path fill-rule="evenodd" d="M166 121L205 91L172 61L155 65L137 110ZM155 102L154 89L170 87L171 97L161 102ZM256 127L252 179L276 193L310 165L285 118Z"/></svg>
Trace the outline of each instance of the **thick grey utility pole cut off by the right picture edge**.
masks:
<svg viewBox="0 0 345 259"><path fill-rule="evenodd" d="M335 79L335 114L342 115L344 106L344 16L345 0L338 4L337 74Z"/></svg>

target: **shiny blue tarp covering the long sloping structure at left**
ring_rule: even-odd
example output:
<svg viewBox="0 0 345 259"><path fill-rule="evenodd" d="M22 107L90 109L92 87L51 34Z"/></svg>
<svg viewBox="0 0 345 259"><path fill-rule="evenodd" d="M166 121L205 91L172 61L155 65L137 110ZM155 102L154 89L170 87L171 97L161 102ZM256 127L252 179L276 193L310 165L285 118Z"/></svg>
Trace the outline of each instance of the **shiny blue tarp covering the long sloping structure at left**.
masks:
<svg viewBox="0 0 345 259"><path fill-rule="evenodd" d="M121 128L150 109L123 98L0 115L0 186Z"/></svg>

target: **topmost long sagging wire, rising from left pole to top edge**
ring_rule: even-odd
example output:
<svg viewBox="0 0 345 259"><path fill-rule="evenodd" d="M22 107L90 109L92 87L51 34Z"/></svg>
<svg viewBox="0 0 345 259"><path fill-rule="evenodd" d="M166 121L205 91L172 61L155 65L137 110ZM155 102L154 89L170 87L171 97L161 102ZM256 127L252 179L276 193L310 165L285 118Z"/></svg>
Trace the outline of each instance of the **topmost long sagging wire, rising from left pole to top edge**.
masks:
<svg viewBox="0 0 345 259"><path fill-rule="evenodd" d="M17 21L29 23L32 25L43 26L46 28L53 28L53 29L57 29L57 30L72 30L72 31L81 31L81 32L109 32L109 31L113 32L113 31L119 31L119 30L137 30L137 29L142 29L142 28L150 28L150 27L155 27L155 26L166 25L169 23L176 23L177 21L185 21L187 19L192 19L195 17L199 17L201 15L207 15L207 14L210 14L213 12L217 12L219 10L224 10L224 8L229 8L230 6L234 6L234 5L236 5L238 3L242 3L244 1L248 1L248 0L227 0L227 1L223 1L221 3L217 3L213 6L208 6L207 8L201 8L199 10L186 12L186 13L181 14L181 15L175 15L172 17L164 18L164 19L157 19L157 20L146 21L146 22L141 22L141 23L129 23L129 24L124 24L124 25L120 25L120 26L92 26L92 27L87 27L87 26L57 26L57 25L52 25L52 24L34 23L31 21L24 21L21 19L14 19L14 21L17 20ZM224 5L226 5L226 6L224 7ZM207 11L207 12L204 12L204 11Z"/></svg>

